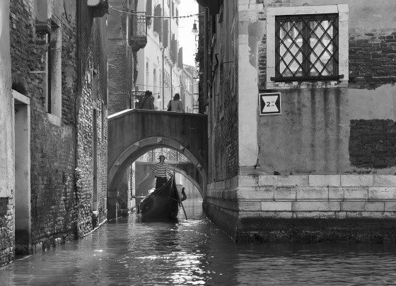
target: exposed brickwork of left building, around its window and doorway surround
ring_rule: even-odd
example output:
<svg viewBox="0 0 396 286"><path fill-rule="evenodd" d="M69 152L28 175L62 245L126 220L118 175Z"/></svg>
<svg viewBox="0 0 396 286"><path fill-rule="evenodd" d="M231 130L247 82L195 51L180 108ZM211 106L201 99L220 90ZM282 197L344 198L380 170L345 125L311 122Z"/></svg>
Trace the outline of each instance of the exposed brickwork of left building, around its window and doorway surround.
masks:
<svg viewBox="0 0 396 286"><path fill-rule="evenodd" d="M86 1L62 9L54 3L52 12L62 30L62 120L52 124L45 111L45 35L35 33L34 2L10 4L13 89L30 98L33 253L83 236L92 231L93 221L103 222L107 216L105 18L93 20ZM77 21L78 15L82 21ZM93 69L98 73L98 214L92 212ZM81 189L74 183L76 167L83 168Z"/></svg>

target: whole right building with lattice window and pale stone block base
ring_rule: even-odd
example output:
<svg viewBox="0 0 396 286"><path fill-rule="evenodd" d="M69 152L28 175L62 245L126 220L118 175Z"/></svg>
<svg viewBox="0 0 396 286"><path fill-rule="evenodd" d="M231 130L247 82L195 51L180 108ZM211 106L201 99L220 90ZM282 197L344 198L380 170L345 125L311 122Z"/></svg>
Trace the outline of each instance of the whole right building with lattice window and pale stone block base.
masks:
<svg viewBox="0 0 396 286"><path fill-rule="evenodd" d="M396 2L197 2L209 217L237 241L393 241Z"/></svg>

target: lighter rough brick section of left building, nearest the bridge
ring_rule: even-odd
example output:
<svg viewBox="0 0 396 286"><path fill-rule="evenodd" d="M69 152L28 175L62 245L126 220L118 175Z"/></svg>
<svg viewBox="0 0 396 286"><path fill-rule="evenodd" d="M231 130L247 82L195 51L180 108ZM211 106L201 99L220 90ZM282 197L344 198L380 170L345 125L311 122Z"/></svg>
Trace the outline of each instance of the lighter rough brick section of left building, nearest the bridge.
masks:
<svg viewBox="0 0 396 286"><path fill-rule="evenodd" d="M85 19L92 11L81 4ZM81 27L81 96L78 97L77 168L81 170L78 185L78 236L84 236L107 217L107 58L103 18L87 20ZM93 98L93 71L98 76L98 94ZM96 109L97 131L97 195L98 213L93 212L93 109Z"/></svg>

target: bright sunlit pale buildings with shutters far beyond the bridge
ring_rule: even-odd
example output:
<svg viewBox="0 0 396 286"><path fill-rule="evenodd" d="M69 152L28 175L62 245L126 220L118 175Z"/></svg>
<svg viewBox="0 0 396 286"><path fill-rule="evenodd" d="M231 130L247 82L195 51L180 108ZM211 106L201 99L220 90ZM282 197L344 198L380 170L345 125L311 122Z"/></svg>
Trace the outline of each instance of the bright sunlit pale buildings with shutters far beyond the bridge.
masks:
<svg viewBox="0 0 396 286"><path fill-rule="evenodd" d="M179 0L139 1L138 11L152 16L147 24L147 45L137 52L139 72L136 91L152 91L156 110L166 110L180 93L182 48L178 44ZM158 18L156 18L158 17Z"/></svg>

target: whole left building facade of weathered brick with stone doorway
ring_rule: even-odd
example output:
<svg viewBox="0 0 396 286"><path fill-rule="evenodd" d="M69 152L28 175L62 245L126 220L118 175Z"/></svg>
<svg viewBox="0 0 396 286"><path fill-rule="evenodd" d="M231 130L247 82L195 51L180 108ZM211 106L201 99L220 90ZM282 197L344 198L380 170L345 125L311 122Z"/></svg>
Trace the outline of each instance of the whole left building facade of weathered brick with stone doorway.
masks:
<svg viewBox="0 0 396 286"><path fill-rule="evenodd" d="M108 4L0 5L7 72L0 76L1 114L8 113L1 117L6 136L0 139L7 148L1 149L4 265L15 253L45 251L106 220Z"/></svg>

